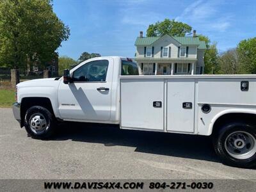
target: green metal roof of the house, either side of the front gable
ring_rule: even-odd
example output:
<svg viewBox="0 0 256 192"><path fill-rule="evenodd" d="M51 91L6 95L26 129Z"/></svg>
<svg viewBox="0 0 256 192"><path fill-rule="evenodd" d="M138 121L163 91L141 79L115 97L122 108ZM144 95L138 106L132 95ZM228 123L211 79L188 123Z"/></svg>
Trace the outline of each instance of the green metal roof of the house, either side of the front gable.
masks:
<svg viewBox="0 0 256 192"><path fill-rule="evenodd" d="M135 45L151 45L157 40L159 40L161 36L150 36L150 37L137 37L135 41ZM172 36L177 42L182 45L198 45L198 49L206 49L206 45L204 41L200 41L198 37L193 36Z"/></svg>

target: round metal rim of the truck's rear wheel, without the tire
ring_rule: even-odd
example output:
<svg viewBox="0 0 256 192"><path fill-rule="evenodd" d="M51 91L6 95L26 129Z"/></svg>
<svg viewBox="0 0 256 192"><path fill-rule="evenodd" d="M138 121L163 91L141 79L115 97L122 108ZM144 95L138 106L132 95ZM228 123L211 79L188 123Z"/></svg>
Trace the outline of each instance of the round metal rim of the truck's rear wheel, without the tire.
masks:
<svg viewBox="0 0 256 192"><path fill-rule="evenodd" d="M232 132L225 140L225 149L236 159L248 159L256 153L256 139L249 132Z"/></svg>

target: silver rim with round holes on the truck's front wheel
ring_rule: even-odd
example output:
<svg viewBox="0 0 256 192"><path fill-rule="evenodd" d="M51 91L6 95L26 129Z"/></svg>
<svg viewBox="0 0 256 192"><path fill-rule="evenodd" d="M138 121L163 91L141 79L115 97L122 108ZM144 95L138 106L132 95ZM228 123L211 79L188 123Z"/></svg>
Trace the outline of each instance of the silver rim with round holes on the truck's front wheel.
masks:
<svg viewBox="0 0 256 192"><path fill-rule="evenodd" d="M49 124L41 113L31 115L29 120L29 127L35 134L42 134L49 128Z"/></svg>

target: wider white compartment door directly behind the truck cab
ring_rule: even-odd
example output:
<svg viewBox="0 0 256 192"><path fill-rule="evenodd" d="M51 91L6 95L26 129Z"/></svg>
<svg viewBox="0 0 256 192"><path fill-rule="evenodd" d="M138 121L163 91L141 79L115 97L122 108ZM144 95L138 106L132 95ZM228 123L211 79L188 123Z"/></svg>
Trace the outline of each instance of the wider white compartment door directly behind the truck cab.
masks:
<svg viewBox="0 0 256 192"><path fill-rule="evenodd" d="M164 80L120 79L120 127L164 131Z"/></svg>

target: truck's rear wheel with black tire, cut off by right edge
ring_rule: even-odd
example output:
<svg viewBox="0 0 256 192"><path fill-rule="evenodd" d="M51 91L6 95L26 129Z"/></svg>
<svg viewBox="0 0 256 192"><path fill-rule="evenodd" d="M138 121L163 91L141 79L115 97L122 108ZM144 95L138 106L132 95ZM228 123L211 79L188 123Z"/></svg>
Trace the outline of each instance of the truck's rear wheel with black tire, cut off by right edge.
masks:
<svg viewBox="0 0 256 192"><path fill-rule="evenodd" d="M240 168L252 168L256 166L256 152L254 152L254 148L253 150L250 150L249 147L252 146L248 144L246 145L246 142L249 141L249 138L252 138L252 143L254 143L252 145L256 146L256 126L248 122L229 122L220 125L220 127L218 128L220 129L218 129L218 132L214 134L213 144L214 150L216 151L218 156L220 156L223 163L229 166L236 166ZM239 133L241 133L241 135L239 135ZM247 155L248 157L244 156L244 159L241 159L241 157L237 156L237 154L247 154L246 151L244 153L239 154L239 151L243 152L243 148L238 148L237 150L237 146L241 145L242 147L243 144L241 144L241 142L239 143L237 139L234 140L234 138L232 138L232 136L236 136L236 138L240 139L240 137L237 137L237 134L238 136L242 136L243 139L245 138L244 141L246 142L244 142L244 150L248 150L248 152L250 150L251 152L250 155ZM248 136L248 138L246 138L246 135ZM235 146L234 143L238 144ZM234 152L230 152L230 149L232 148L234 149Z"/></svg>

